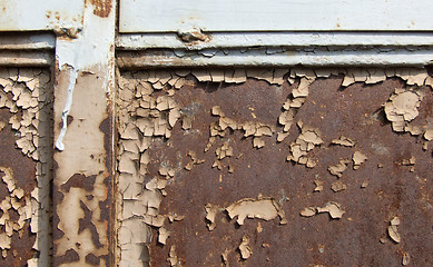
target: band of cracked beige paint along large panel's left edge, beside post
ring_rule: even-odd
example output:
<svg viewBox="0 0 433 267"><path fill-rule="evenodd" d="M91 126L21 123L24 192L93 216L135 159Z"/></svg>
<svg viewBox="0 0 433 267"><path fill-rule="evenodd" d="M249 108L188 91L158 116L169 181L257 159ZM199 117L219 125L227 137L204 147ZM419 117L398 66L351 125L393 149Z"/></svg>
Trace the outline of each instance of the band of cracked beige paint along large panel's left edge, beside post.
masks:
<svg viewBox="0 0 433 267"><path fill-rule="evenodd" d="M118 118L120 134L119 150L119 192L122 202L122 211L119 214L120 229L118 244L120 247L119 266L142 265L149 257L140 257L135 251L140 250L149 255L150 228L159 228L158 240L166 244L169 230L164 227L166 216L159 215L159 206L163 200L164 188L169 179L175 176L175 170L168 165L160 166L159 175L145 182L144 177L148 172L148 148L155 138L169 138L171 129L180 119L178 105L170 96L152 96L161 90L170 80L161 80L163 72L144 73L137 77L119 77ZM176 85L179 78L175 78ZM132 105L131 105L132 103ZM132 118L131 120L130 118ZM184 117L185 120L185 117ZM190 170L194 165L201 164L194 151L188 152L191 161L185 167ZM134 185L145 185L142 191ZM183 219L174 215L167 216L171 222ZM145 227L142 235L128 241L129 229ZM147 233L147 234L146 234ZM140 253L140 254L142 254ZM175 248L171 247L169 263L178 266Z"/></svg>

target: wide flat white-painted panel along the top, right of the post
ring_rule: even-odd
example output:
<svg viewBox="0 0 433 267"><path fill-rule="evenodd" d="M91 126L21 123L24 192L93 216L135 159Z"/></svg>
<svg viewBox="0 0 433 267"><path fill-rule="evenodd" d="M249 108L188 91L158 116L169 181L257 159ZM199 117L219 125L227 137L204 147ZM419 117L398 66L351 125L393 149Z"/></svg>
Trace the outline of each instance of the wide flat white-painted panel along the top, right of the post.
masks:
<svg viewBox="0 0 433 267"><path fill-rule="evenodd" d="M120 32L432 31L432 0L120 0Z"/></svg>

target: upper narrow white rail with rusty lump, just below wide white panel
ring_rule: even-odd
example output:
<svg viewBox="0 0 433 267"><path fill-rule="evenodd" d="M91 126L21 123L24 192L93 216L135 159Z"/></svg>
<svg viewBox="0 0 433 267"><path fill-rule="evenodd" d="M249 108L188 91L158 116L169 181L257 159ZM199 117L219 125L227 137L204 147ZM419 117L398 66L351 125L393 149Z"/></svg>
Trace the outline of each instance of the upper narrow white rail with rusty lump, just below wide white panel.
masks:
<svg viewBox="0 0 433 267"><path fill-rule="evenodd" d="M117 37L121 50L170 48L201 50L242 47L305 46L433 46L433 32L215 32L209 41L186 43L176 33L126 33Z"/></svg>

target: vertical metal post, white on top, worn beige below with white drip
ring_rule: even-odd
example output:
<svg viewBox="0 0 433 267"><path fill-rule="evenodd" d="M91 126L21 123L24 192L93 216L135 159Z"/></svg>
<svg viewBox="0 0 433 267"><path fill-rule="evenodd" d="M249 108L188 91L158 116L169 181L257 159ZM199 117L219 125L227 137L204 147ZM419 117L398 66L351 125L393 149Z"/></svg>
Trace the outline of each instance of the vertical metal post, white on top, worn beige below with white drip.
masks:
<svg viewBox="0 0 433 267"><path fill-rule="evenodd" d="M77 38L57 39L53 266L111 265L115 10L90 1Z"/></svg>

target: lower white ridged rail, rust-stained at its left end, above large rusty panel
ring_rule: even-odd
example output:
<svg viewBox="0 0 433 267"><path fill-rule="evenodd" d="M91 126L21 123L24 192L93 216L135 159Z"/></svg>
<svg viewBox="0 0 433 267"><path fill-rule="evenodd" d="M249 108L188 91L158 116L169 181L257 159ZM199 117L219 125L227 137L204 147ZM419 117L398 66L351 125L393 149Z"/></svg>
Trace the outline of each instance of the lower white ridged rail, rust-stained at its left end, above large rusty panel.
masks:
<svg viewBox="0 0 433 267"><path fill-rule="evenodd" d="M266 51L223 51L186 53L181 57L173 51L130 52L120 51L117 62L120 68L154 67L291 67L291 66L405 66L424 67L433 63L433 50L398 49L394 51L377 50L337 50L337 51L285 51L267 55Z"/></svg>

